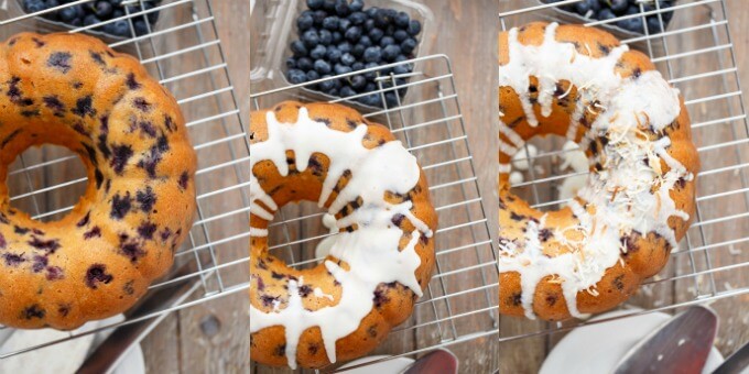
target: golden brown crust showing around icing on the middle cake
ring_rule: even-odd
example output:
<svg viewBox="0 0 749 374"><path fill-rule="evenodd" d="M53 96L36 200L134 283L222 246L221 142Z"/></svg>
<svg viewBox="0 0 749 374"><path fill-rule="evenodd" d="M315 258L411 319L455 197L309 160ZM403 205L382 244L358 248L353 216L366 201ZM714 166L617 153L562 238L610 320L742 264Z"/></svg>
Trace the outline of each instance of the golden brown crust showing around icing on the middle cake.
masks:
<svg viewBox="0 0 749 374"><path fill-rule="evenodd" d="M368 121L348 107L330 103L302 105L295 101L286 101L269 110L251 113L251 143L257 144L268 140L265 114L269 111L274 112L279 122L296 123L302 107L306 108L311 119L323 121L329 129L336 131L348 133L357 124L366 124L367 133L362 141L366 148L371 150L395 140L388 128ZM262 189L269 193L279 208L285 204L297 202L300 200L317 201L330 165L328 156L314 153L311 156L311 166L301 173L296 170L296 163L298 161L295 160L293 152L287 151L286 158L290 172L285 177L279 174L278 168L270 161L259 162L254 165L252 173L258 177ZM351 170L351 173L356 174L357 170ZM337 187L326 201L325 208L329 207L349 180L350 177L345 175L337 182ZM413 202L411 212L434 231L437 226L437 216L430 200L428 187L423 172L421 172L417 185L408 195L389 195L386 196L386 200L389 202L411 200ZM360 201L349 202L343 212L350 212L357 209L358 204ZM338 213L336 218L343 217L343 212ZM250 216L250 226L252 228L267 229L269 223L268 220L256 215ZM404 233L411 233L416 230L408 219L399 222L399 227ZM356 229L356 227L352 228L352 230ZM399 248L404 248L408 241L408 235L404 234ZM415 252L421 258L421 265L415 271L415 277L421 288L424 289L430 282L434 268L434 239L422 235L415 245ZM328 256L328 260L338 261L332 256ZM347 264L343 263L341 266L346 268ZM267 237L251 238L250 302L254 308L268 312L273 310L273 306L267 301L280 300L283 306L281 308L283 309L289 299L289 280L300 278L304 279L304 285L308 289L319 287L323 294L333 296L333 300L329 300L328 298L307 295L302 298L306 309L318 310L339 302L343 288L332 274L326 271L325 266L321 264L303 271L291 268L283 261L268 252ZM411 315L417 298L410 288L400 283L380 284L372 297L374 299L374 308L361 320L359 328L349 336L336 341L337 362L360 358L373 350L387 337L392 327L403 322ZM251 336L251 360L272 366L286 366L285 349L286 341L282 326L264 328ZM321 369L330 364L326 355L319 328L310 328L302 333L296 352L296 361L301 367Z"/></svg>

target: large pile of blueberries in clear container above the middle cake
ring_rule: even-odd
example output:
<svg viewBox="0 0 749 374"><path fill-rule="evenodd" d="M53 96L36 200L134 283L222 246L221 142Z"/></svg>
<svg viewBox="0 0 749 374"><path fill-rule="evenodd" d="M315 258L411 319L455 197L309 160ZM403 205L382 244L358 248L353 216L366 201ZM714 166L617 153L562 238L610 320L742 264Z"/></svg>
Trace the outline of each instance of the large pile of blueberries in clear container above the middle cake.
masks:
<svg viewBox="0 0 749 374"><path fill-rule="evenodd" d="M294 85L336 75L400 63L413 58L422 31L421 22L405 12L377 7L365 9L363 0L306 0L307 10L296 19L298 40L291 43L292 57L286 61L286 78ZM410 64L376 73L330 79L310 87L333 97L347 98L374 92L379 76L400 76L395 85L405 84ZM393 87L390 79L383 87ZM398 106L405 88L384 94L365 95L357 100L366 106Z"/></svg>

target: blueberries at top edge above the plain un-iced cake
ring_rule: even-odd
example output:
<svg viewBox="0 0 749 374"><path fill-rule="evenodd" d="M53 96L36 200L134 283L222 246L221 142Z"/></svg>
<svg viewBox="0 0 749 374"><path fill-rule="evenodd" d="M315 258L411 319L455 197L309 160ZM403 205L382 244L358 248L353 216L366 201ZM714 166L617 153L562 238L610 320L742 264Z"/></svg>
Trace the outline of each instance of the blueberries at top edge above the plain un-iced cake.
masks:
<svg viewBox="0 0 749 374"><path fill-rule="evenodd" d="M76 0L22 0L22 6L26 13L34 13L75 1ZM123 16L126 14L132 14L143 10L153 9L161 2L161 0L143 1L142 8L141 2L137 2L127 6L128 9L126 12L126 6L122 4L123 1L124 0L90 1L44 13L42 16L46 20L62 22L74 28L90 26L104 21ZM152 28L158 20L159 11L153 11L141 16L132 18L132 29L130 29L130 22L126 19L95 28L93 30L117 37L133 37L135 35L140 36L148 34L149 26ZM135 35L132 34L131 30L135 31Z"/></svg>

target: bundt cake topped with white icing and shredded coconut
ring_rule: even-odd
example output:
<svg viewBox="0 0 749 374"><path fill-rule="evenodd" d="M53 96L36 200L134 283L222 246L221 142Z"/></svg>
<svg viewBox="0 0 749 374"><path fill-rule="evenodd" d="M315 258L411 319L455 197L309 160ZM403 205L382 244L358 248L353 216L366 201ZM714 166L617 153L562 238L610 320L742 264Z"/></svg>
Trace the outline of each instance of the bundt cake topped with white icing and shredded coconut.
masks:
<svg viewBox="0 0 749 374"><path fill-rule="evenodd" d="M596 29L532 23L499 35L500 311L563 320L614 308L656 274L695 210L690 119L643 54ZM536 135L586 150L590 174L542 212L510 191Z"/></svg>

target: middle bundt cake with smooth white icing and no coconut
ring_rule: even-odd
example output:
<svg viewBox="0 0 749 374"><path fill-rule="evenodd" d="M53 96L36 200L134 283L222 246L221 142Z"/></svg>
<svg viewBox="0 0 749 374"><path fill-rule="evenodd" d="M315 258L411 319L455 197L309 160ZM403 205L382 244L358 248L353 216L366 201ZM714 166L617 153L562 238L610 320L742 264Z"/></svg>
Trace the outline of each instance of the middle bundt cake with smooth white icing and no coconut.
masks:
<svg viewBox="0 0 749 374"><path fill-rule="evenodd" d="M283 102L250 121L250 356L323 367L377 346L412 312L434 267L424 173L390 131L352 109ZM338 232L295 270L268 250L285 204L317 201Z"/></svg>

